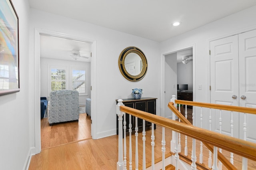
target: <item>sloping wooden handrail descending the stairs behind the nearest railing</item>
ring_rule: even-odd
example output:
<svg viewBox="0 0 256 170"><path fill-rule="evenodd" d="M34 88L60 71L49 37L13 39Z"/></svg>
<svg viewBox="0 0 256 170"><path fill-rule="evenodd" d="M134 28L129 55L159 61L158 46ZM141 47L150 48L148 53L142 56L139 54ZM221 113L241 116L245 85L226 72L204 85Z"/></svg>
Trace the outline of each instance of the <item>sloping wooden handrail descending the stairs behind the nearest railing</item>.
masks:
<svg viewBox="0 0 256 170"><path fill-rule="evenodd" d="M186 123L187 125L192 125L190 123L190 121L188 121L188 119L186 119L175 107L174 107L174 103L173 102L169 102L168 103L168 107L174 112L175 115L178 116L178 118L180 119L180 121L182 121L183 123ZM213 146L203 142L204 145L213 153ZM215 145L214 145L215 146ZM231 164L230 161L228 161L228 159L223 156L222 153L220 153L220 151L218 151L218 159L220 160L220 162L222 162L222 164L224 164L224 166L226 166L226 168L228 168L229 170L236 170L236 167Z"/></svg>

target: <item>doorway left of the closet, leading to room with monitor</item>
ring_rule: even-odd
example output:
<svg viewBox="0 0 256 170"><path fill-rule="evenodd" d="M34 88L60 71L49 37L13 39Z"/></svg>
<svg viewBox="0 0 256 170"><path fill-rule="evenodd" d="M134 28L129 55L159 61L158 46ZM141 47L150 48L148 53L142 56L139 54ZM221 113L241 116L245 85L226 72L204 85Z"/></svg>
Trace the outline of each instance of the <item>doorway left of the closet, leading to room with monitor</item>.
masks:
<svg viewBox="0 0 256 170"><path fill-rule="evenodd" d="M176 98L178 97L178 81L182 84L189 84L189 91L193 93L194 91L194 82L195 82L195 59L193 59L194 56L194 46L190 46L187 48L181 48L178 50L172 50L169 53L162 55L162 96L161 99L163 101L162 103L162 116L172 119L172 112L168 108L168 103L170 102L170 99L172 98L172 95L176 95ZM186 56L186 57L184 57ZM182 59L183 57L183 59ZM186 60L187 59L187 60ZM182 60L184 63L182 63ZM188 65L187 65L188 64ZM179 71L178 73L178 65L179 67L184 67L185 72ZM183 68L183 69L184 69ZM187 71L187 73L186 73ZM183 80L182 77L189 77L189 81ZM188 83L189 82L189 83ZM186 90L186 92L188 92ZM194 101L195 95L192 95L192 100Z"/></svg>

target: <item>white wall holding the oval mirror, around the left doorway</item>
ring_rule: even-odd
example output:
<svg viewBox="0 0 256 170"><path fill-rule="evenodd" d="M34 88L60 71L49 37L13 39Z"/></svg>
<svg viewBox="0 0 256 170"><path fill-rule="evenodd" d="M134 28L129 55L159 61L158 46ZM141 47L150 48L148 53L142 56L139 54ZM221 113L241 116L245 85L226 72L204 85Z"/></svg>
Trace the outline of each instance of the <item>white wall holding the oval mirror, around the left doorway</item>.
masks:
<svg viewBox="0 0 256 170"><path fill-rule="evenodd" d="M95 126L93 134L96 134L94 138L116 134L116 99L131 98L131 91L135 87L144 90L143 97L158 98L156 113L160 115L160 68L156 67L160 65L157 57L160 55L160 43L35 9L31 9L30 12L30 61L32 62L30 69L34 77L31 82L34 85L31 89L35 91L34 108L40 108L37 105L40 97L38 93L40 85L37 85L40 81L37 77L40 74L37 70L40 63L37 62L40 62L40 59L36 58L37 54L34 54L34 29L42 29L94 42L91 82L92 126ZM140 48L148 60L147 74L138 82L126 80L118 68L119 55L128 46ZM37 125L39 121L40 118L36 118L37 131L40 130Z"/></svg>

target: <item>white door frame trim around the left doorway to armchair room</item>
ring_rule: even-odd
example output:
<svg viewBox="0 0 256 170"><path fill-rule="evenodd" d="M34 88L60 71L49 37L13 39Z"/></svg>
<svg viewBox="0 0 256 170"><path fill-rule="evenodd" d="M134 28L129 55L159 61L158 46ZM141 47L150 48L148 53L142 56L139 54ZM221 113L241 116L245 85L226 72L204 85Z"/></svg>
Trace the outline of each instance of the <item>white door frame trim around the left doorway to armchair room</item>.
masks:
<svg viewBox="0 0 256 170"><path fill-rule="evenodd" d="M41 89L41 85L40 85L40 35L41 34L47 34L47 35L51 35L51 36L57 36L59 38L70 38L72 40L78 40L78 41L84 41L84 42L89 42L91 43L91 87L90 88L90 92L91 92L91 119L94 119L94 108L96 108L96 102L94 103L94 99L96 99L96 87L92 88L92 84L94 82L94 84L96 84L96 79L93 79L93 75L94 77L96 77L96 70L95 70L95 65L96 65L96 56L94 56L94 53L96 51L95 49L95 43L94 41L91 40L86 40L86 39L82 39L81 37L76 37L76 36L72 36L72 35L67 35L67 34L62 34L59 32L52 32L52 31L46 31L46 30L41 30L41 29L35 29L34 30L34 57L32 57L31 61L34 63L33 67L32 67L32 81L34 81L34 85L33 85L33 89L31 89L32 91L34 91L34 99L31 100L31 102L34 103L34 132L32 132L34 134L34 143L35 143L35 148L34 148L34 153L38 154L41 152L41 133L40 133L40 89ZM94 71L93 71L94 70ZM92 122L92 121L91 121ZM92 138L95 138L94 136L96 134L94 134L94 127L96 127L96 121L94 124L91 123L91 134L92 134Z"/></svg>

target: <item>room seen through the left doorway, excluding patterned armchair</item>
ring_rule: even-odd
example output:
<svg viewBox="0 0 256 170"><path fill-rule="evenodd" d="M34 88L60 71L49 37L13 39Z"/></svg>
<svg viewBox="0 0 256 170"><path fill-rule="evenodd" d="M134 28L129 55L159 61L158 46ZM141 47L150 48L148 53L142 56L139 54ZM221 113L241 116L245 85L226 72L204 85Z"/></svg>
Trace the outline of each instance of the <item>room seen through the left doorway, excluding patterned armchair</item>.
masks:
<svg viewBox="0 0 256 170"><path fill-rule="evenodd" d="M40 35L40 97L52 90L79 92L79 121L49 126L47 111L41 119L41 148L47 149L91 137L91 119L85 113L90 94L91 43L47 34ZM60 76L61 75L61 76Z"/></svg>

